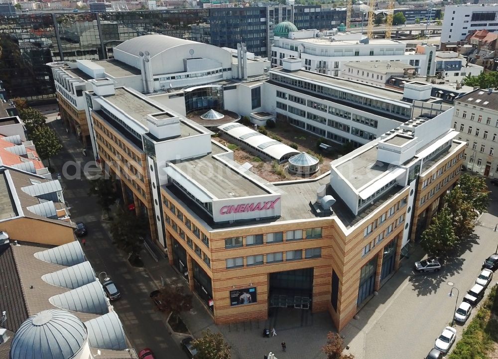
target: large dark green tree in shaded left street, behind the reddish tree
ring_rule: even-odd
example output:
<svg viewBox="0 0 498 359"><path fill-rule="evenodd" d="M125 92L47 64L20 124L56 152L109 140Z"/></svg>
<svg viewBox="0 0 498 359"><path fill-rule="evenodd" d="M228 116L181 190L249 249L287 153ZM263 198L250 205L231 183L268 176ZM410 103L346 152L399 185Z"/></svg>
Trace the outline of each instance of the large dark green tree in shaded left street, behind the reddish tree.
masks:
<svg viewBox="0 0 498 359"><path fill-rule="evenodd" d="M140 263L140 251L147 227L143 217L135 216L130 211L120 213L111 224L113 242L128 254L131 264Z"/></svg>

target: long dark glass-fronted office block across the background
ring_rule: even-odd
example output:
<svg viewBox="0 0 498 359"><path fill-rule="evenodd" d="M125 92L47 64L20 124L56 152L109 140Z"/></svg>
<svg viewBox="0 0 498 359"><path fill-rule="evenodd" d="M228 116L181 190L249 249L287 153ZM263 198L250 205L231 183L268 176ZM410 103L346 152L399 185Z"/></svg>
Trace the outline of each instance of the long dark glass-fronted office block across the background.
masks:
<svg viewBox="0 0 498 359"><path fill-rule="evenodd" d="M320 6L294 6L298 29L330 29L345 22L345 10L317 12L317 8ZM0 16L0 79L11 98L54 99L52 72L46 63L112 58L115 46L147 34L231 48L244 41L249 52L266 57L270 47L267 11L266 7L254 6L3 15ZM288 11L285 8L283 16L277 13L274 21L289 19Z"/></svg>

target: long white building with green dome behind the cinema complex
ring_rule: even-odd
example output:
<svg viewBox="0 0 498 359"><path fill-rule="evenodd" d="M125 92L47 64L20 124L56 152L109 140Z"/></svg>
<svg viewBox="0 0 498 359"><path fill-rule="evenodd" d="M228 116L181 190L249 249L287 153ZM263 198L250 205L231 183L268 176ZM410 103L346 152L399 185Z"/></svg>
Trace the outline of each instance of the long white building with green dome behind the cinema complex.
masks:
<svg viewBox="0 0 498 359"><path fill-rule="evenodd" d="M279 24L280 25L280 24ZM295 57L309 71L342 76L344 64L351 61L399 61L412 65L416 72L434 75L436 48L419 45L408 51L406 44L391 39L363 39L360 34L326 35L318 30L292 30L275 27L271 46L271 66L282 66L282 59Z"/></svg>

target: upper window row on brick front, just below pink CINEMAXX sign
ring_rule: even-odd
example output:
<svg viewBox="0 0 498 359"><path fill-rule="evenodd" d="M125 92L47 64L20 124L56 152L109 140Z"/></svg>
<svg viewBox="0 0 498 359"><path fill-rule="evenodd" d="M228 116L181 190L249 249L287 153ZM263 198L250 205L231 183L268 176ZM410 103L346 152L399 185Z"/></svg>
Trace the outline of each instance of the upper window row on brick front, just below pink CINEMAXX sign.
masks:
<svg viewBox="0 0 498 359"><path fill-rule="evenodd" d="M304 237L303 237L304 235ZM264 241L264 235L248 235L245 237L246 242L244 243L244 238L242 236L231 237L225 239L225 248L237 248L245 245L258 245L264 243L277 243L284 241L283 232L273 232L266 234L266 241ZM321 228L308 228L306 230L295 230L287 231L285 235L285 240L299 240L299 239L317 239L322 238Z"/></svg>

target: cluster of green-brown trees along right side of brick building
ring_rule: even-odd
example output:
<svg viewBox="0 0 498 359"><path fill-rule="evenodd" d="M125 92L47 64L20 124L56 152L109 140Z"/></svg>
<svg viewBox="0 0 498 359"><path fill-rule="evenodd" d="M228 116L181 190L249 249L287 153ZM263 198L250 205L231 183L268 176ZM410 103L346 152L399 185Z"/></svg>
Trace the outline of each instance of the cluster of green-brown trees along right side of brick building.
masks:
<svg viewBox="0 0 498 359"><path fill-rule="evenodd" d="M444 196L442 210L423 232L422 248L430 255L444 257L468 239L477 217L487 210L489 193L484 178L463 174L457 186Z"/></svg>

